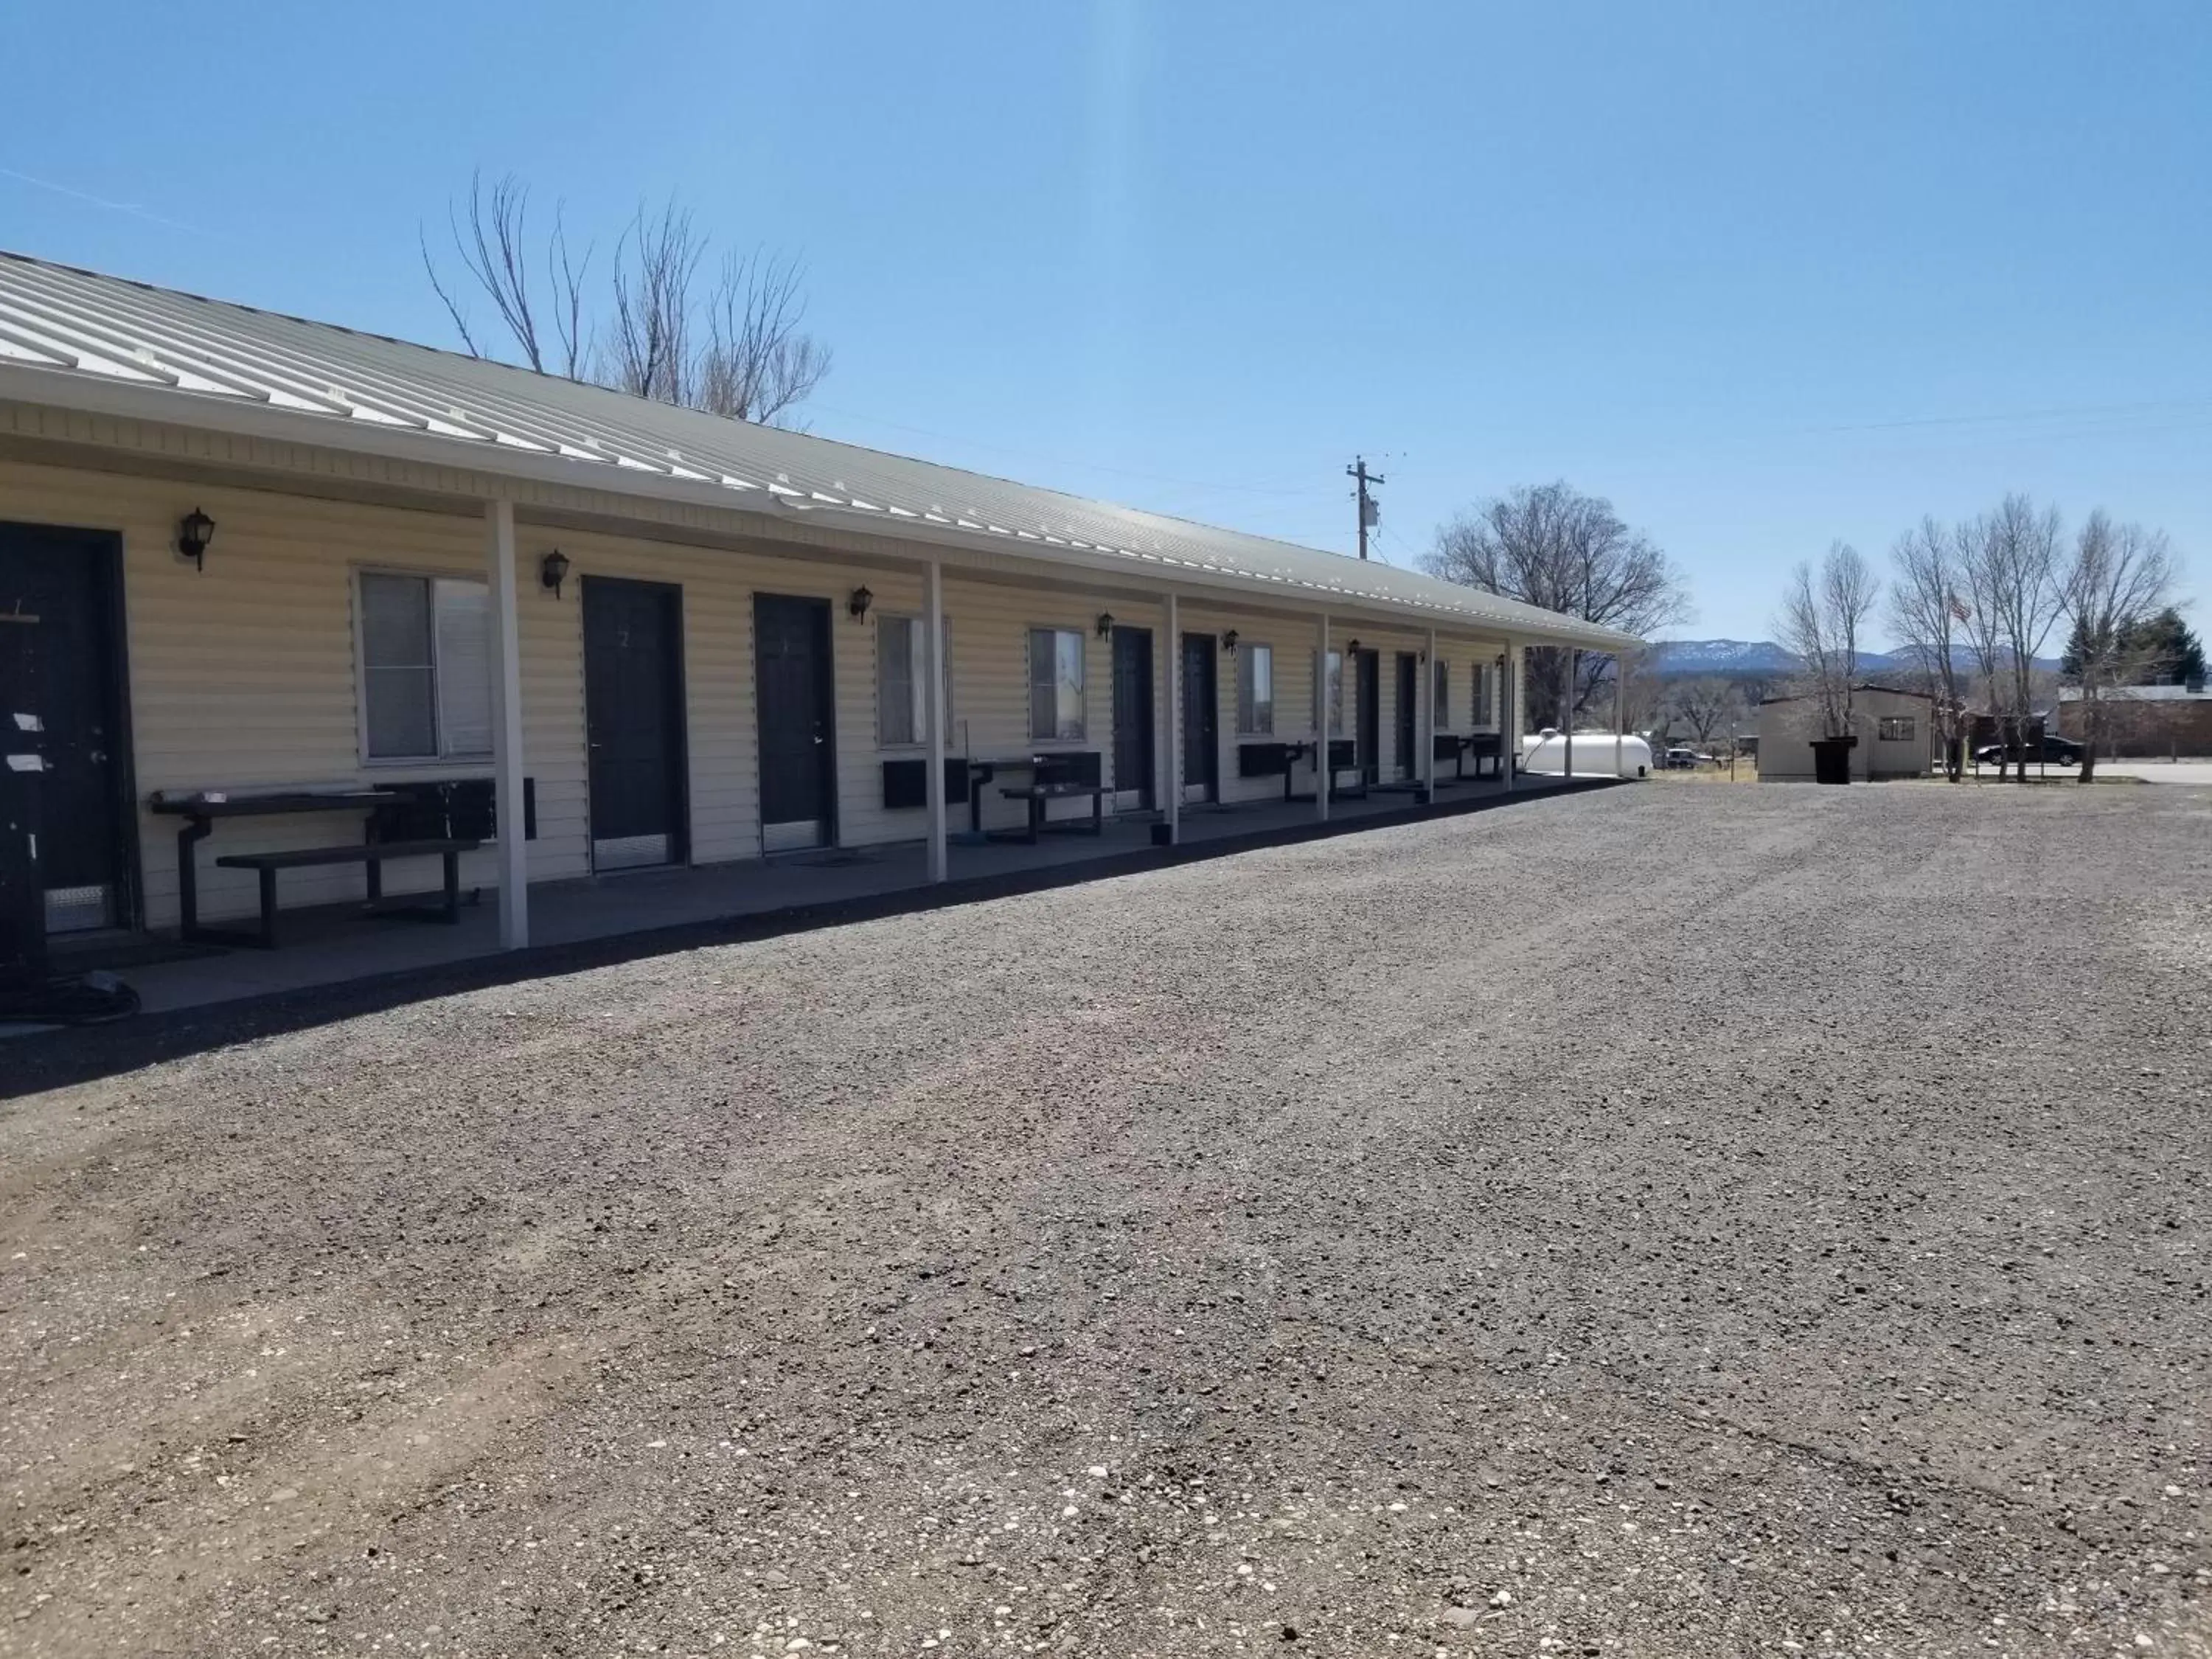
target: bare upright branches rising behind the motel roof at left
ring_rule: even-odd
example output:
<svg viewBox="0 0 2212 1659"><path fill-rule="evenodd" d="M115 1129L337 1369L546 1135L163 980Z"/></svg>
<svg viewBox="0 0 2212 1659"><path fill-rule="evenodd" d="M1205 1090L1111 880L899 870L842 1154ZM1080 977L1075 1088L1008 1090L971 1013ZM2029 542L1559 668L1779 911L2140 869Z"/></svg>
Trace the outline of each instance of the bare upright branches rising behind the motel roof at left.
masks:
<svg viewBox="0 0 2212 1659"><path fill-rule="evenodd" d="M675 201L639 206L615 243L597 307L586 292L593 250L571 257L560 210L540 248L529 186L515 175L489 190L471 175L467 212L449 204L447 228L467 283L440 276L427 239L422 265L476 356L489 354L487 341L456 292L469 285L491 301L515 352L540 374L593 378L732 420L779 420L830 374L830 349L803 327L803 268L757 248L723 259L717 279L703 283L710 239Z"/></svg>

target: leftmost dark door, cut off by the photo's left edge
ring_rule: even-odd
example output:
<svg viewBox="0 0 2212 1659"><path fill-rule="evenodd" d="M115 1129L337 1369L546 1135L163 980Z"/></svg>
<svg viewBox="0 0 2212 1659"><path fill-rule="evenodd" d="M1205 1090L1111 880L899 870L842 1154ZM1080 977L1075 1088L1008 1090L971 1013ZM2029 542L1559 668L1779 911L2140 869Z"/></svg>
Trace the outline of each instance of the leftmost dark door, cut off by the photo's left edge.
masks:
<svg viewBox="0 0 2212 1659"><path fill-rule="evenodd" d="M113 535L0 524L0 816L49 933L133 920L119 593Z"/></svg>

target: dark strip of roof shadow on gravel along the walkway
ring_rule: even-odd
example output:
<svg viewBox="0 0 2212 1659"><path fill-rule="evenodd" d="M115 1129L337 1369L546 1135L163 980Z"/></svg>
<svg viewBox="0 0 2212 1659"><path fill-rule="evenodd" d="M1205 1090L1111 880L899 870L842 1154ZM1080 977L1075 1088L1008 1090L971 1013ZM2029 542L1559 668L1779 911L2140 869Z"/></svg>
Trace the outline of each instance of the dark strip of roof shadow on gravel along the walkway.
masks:
<svg viewBox="0 0 2212 1659"><path fill-rule="evenodd" d="M153 1066L161 1060L223 1048L254 1037L276 1037L290 1031L305 1031L319 1024L334 1024L365 1013L383 1013L409 1002L460 991L484 991L520 980L577 973L584 969L617 967L648 956L670 956L695 951L706 945L743 945L750 940L803 933L816 927L843 927L847 922L869 922L883 916L909 916L916 911L951 909L953 905L975 905L991 898L1013 898L1055 887L1073 887L1108 876L1135 876L1146 869L1172 869L1208 858L1225 858L1239 852L1265 847L1290 847L1303 841L1325 841L1332 836L1360 834L1365 830L1387 830L1402 823L1427 823L1431 818L1460 818L1473 812L1553 801L1590 790L1610 790L1617 779L1575 779L1553 783L1542 792L1484 794L1469 801L1438 801L1405 812L1376 814L1356 823L1310 823L1279 830L1254 830L1243 836L1217 836L1183 847L1139 847L1135 852L1086 858L1071 865L1046 865L1020 869L1002 876L971 876L940 887L907 887L896 894L872 894L830 905L792 905L787 909L754 911L750 916L728 916L710 922L684 922L681 927L657 927L641 933L613 933L608 938L582 940L575 945L542 945L526 951L502 951L478 956L465 962L447 962L431 969L407 969L400 973L374 973L338 984L319 984L303 991L274 991L237 1002L217 1002L201 1009L175 1009L170 1013L148 1013L113 1026L86 1026L66 1031L33 1033L0 1042L0 1099L35 1095L46 1088L64 1088L97 1077Z"/></svg>

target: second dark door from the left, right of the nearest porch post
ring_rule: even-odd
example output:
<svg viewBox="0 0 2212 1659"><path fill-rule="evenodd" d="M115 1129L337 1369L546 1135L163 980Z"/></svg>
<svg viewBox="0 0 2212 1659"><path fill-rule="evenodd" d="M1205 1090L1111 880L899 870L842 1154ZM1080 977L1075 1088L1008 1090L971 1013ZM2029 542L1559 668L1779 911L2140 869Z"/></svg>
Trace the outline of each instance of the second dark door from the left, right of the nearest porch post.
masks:
<svg viewBox="0 0 2212 1659"><path fill-rule="evenodd" d="M679 865L684 845L684 591L584 577L591 867Z"/></svg>

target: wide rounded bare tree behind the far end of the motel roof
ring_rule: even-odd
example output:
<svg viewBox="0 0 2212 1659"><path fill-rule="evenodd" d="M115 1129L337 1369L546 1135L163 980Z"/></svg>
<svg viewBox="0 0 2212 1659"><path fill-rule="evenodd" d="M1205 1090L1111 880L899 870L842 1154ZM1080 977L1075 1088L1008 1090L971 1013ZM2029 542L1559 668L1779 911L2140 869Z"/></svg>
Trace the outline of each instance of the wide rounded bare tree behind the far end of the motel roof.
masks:
<svg viewBox="0 0 2212 1659"><path fill-rule="evenodd" d="M1668 555L1628 529L1613 502L1566 480L1524 484L1462 513L1436 533L1422 568L1635 635L1690 615L1688 588ZM1566 728L1593 701L1604 703L1597 692L1613 679L1613 659L1584 653L1573 686L1571 659L1562 648L1528 650L1524 697L1537 726Z"/></svg>

